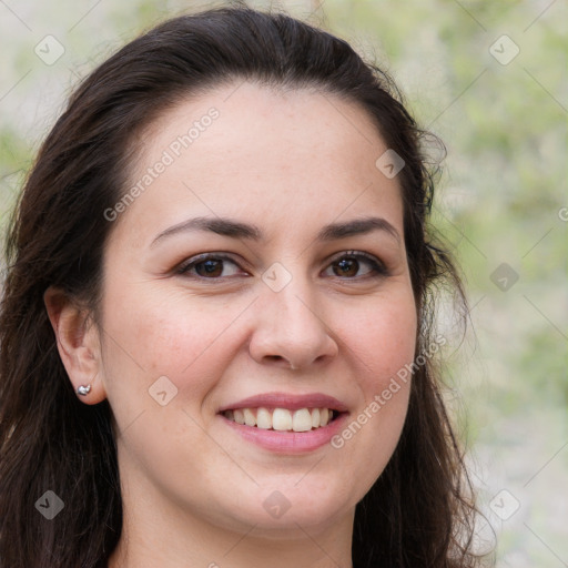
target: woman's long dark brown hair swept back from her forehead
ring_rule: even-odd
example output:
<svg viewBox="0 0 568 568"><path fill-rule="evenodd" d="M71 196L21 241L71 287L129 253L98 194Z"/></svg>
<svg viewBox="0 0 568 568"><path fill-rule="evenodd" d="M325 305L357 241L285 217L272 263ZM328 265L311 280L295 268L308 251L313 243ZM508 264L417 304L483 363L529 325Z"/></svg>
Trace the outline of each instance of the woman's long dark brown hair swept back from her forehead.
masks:
<svg viewBox="0 0 568 568"><path fill-rule="evenodd" d="M428 229L434 175L425 133L381 69L345 41L283 13L222 8L158 26L71 95L9 227L0 314L1 568L105 566L118 544L122 505L111 408L108 400L84 405L74 394L43 293L62 288L97 312L113 226L103 212L129 186L136 136L176 102L235 80L310 87L355 103L404 160L398 180L419 315L417 355L433 341L440 283L466 305L457 268ZM477 566L470 485L439 384L432 361L414 371L399 443L356 507L357 568ZM64 501L57 521L34 507L48 489Z"/></svg>

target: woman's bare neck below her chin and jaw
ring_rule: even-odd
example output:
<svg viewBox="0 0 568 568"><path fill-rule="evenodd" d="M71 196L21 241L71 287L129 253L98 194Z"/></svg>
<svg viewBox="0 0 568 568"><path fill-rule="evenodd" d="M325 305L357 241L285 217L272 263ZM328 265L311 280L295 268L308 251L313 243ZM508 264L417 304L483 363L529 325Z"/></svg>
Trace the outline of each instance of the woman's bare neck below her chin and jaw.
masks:
<svg viewBox="0 0 568 568"><path fill-rule="evenodd" d="M123 526L108 568L352 568L355 508L325 524L283 517L276 528L221 526L209 511L190 511L155 487L122 488ZM285 528L284 528L285 527Z"/></svg>

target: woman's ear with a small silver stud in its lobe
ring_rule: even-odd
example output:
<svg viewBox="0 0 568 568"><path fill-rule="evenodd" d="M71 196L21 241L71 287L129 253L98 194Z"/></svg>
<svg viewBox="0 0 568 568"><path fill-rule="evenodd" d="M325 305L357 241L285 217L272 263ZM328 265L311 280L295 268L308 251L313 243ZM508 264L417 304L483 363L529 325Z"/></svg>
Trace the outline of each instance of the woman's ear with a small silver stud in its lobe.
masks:
<svg viewBox="0 0 568 568"><path fill-rule="evenodd" d="M61 290L49 287L43 294L43 303L55 332L59 356L73 385L91 385L87 395L79 395L85 404L98 404L106 398L101 381L101 342L95 325L89 318L89 312L80 308Z"/></svg>

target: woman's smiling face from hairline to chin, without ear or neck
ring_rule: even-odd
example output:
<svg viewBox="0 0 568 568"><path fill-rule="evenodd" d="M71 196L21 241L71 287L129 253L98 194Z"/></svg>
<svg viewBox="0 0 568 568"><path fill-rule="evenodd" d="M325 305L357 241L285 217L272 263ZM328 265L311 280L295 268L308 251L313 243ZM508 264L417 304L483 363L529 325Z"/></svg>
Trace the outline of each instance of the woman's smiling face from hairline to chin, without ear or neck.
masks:
<svg viewBox="0 0 568 568"><path fill-rule="evenodd" d="M149 518L243 532L351 521L397 444L409 384L389 385L415 354L387 148L335 95L252 83L141 141L138 191L105 213L97 378L128 495Z"/></svg>

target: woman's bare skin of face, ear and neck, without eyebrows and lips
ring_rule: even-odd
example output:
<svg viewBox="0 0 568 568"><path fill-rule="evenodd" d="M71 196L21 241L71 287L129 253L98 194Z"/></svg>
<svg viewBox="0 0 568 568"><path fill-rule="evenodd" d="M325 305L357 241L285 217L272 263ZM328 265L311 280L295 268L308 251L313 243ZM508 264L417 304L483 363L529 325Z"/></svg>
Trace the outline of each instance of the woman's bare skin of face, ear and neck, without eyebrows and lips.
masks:
<svg viewBox="0 0 568 568"><path fill-rule="evenodd" d="M125 516L109 566L348 568L355 505L394 452L409 385L342 448L302 455L260 448L216 413L261 393L324 393L351 422L413 361L398 181L375 166L387 148L358 106L245 82L184 101L146 129L132 183L212 106L219 118L114 221L100 325L84 325L88 314L59 291L45 294L73 387L92 384L80 399L108 398L116 419ZM196 216L254 224L265 240L187 231L152 245ZM399 240L315 240L324 225L368 216ZM342 270L349 251L388 275L364 260ZM204 252L236 264L216 280L175 273ZM274 263L292 277L280 292L262 280ZM165 406L149 395L161 376L178 388ZM280 518L263 507L274 490L291 504Z"/></svg>

